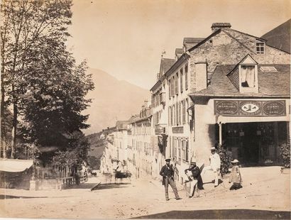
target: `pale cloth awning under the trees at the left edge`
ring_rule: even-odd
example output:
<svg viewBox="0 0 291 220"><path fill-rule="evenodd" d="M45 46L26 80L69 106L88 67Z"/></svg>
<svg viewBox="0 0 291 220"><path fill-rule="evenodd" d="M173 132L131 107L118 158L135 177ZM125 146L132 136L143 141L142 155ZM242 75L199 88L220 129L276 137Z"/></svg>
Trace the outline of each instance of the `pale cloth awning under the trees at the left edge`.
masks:
<svg viewBox="0 0 291 220"><path fill-rule="evenodd" d="M0 171L23 172L33 165L33 160L0 159Z"/></svg>

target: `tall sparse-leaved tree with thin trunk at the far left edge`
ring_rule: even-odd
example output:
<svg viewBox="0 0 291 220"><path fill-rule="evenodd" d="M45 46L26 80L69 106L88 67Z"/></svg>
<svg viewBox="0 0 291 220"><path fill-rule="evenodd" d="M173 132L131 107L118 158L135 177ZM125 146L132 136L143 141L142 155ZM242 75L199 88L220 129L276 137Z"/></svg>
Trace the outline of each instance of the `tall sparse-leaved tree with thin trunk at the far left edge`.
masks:
<svg viewBox="0 0 291 220"><path fill-rule="evenodd" d="M1 119L2 106L11 104L13 108L13 128L11 138L11 158L14 157L18 107L23 76L31 60L31 49L37 49L45 36L64 42L69 35L72 12L71 1L13 1L4 0L1 4ZM7 98L6 98L7 97ZM6 98L6 99L5 99ZM3 137L1 137L3 138Z"/></svg>

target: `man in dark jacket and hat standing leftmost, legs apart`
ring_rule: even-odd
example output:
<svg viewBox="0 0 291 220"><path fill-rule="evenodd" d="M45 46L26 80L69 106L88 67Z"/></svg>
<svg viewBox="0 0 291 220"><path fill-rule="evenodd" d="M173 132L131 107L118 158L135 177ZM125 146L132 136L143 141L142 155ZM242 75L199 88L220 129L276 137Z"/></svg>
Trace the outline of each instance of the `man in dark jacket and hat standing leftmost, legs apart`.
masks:
<svg viewBox="0 0 291 220"><path fill-rule="evenodd" d="M165 200L169 200L169 194L168 194L168 189L169 185L172 187L172 191L174 191L175 198L182 199L179 197L179 194L177 192L177 187L175 185L174 181L174 169L172 165L170 165L170 159L165 160L165 165L162 167L160 170L160 175L163 176L163 185L165 185Z"/></svg>

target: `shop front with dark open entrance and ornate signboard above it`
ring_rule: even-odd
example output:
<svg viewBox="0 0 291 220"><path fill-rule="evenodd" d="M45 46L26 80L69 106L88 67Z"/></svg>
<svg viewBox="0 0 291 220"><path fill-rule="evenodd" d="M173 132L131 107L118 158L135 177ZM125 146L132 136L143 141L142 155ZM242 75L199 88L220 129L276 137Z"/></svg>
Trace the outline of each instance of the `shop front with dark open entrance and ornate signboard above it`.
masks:
<svg viewBox="0 0 291 220"><path fill-rule="evenodd" d="M216 141L243 165L280 164L289 138L285 100L214 100Z"/></svg>

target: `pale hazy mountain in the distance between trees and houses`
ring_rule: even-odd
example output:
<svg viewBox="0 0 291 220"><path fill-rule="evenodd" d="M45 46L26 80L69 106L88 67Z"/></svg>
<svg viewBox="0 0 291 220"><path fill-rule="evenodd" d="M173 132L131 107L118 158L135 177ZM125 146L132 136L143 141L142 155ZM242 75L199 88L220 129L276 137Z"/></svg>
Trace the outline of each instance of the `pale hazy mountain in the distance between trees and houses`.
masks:
<svg viewBox="0 0 291 220"><path fill-rule="evenodd" d="M87 95L91 106L84 114L89 114L90 128L85 134L97 133L104 128L115 126L117 120L129 119L139 114L143 101L150 99L150 92L129 82L116 79L108 73L89 68L95 89Z"/></svg>

